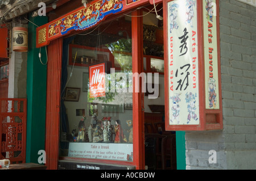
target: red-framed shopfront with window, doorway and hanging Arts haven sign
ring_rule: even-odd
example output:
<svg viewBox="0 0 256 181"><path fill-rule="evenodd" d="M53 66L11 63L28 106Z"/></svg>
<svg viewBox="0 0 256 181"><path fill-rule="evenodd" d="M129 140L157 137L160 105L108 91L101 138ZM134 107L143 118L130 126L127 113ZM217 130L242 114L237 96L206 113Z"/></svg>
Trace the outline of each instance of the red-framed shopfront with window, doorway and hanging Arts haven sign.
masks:
<svg viewBox="0 0 256 181"><path fill-rule="evenodd" d="M181 4L93 1L37 28L36 47L48 45L48 169L176 169L175 132L171 131L222 129L221 93L217 91L220 79L214 84L218 92L214 94L214 107L209 109L205 103L205 71L199 70L204 69L204 32L198 28L203 24L203 3ZM183 12L179 6L184 6L187 14L189 33L195 33L188 39L187 31L179 30L185 34L178 40L185 45L172 50L172 41L177 43L174 39L179 36L172 39L169 32L178 28L175 19ZM187 53L187 47L191 50L184 61L192 65L190 73L190 64L186 67L187 76L195 76L185 77L184 92L178 79L180 92L170 92L175 86L172 78L180 78L177 72L169 71L171 59L181 56L176 55L179 50ZM210 64L217 70L218 64ZM180 64L175 68L178 66L185 68ZM220 78L220 73L215 73ZM185 119L179 121L173 108L188 108L188 96L183 100L187 87L196 108L191 107L191 113L181 111L180 117ZM189 119L187 112L192 115Z"/></svg>

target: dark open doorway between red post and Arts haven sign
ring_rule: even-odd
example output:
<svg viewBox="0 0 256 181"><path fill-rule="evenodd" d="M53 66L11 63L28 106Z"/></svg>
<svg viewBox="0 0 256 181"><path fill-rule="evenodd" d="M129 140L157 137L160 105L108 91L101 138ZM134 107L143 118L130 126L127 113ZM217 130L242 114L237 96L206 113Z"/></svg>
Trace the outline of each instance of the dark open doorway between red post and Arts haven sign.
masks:
<svg viewBox="0 0 256 181"><path fill-rule="evenodd" d="M176 134L165 130L163 6L143 11L143 71L145 169L176 170Z"/></svg>

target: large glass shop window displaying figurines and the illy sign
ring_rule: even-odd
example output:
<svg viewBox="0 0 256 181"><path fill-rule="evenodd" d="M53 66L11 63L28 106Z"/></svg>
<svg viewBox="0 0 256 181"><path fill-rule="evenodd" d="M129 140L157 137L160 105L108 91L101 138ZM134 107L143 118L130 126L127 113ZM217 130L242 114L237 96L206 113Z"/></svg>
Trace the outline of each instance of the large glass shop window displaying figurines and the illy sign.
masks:
<svg viewBox="0 0 256 181"><path fill-rule="evenodd" d="M133 161L131 50L124 17L73 37L61 94L61 157Z"/></svg>

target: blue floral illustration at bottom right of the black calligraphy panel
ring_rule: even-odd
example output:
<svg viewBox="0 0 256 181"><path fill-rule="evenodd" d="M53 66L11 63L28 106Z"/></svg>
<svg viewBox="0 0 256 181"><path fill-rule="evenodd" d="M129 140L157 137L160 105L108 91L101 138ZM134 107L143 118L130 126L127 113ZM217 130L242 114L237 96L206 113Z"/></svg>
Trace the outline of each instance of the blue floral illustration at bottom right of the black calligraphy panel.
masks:
<svg viewBox="0 0 256 181"><path fill-rule="evenodd" d="M187 119L187 124L191 121L191 118L193 120L198 120L197 115L196 115L196 97L197 95L192 94L192 92L186 93L185 100L186 103L188 103L188 119Z"/></svg>

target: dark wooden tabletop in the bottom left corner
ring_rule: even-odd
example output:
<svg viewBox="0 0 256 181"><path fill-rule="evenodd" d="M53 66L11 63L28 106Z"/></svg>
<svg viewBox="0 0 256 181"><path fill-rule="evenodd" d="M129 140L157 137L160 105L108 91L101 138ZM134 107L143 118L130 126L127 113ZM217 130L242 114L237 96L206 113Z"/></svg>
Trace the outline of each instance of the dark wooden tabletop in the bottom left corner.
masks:
<svg viewBox="0 0 256 181"><path fill-rule="evenodd" d="M0 170L46 170L46 168L46 165L40 165L38 163L16 163Z"/></svg>

